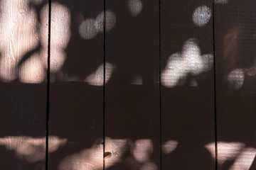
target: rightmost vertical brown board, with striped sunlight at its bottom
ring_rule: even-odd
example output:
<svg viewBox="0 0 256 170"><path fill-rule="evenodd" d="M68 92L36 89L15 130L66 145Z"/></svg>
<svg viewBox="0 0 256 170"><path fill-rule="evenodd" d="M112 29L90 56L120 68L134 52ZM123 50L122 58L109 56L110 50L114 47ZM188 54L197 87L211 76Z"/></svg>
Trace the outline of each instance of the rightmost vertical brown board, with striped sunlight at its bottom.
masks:
<svg viewBox="0 0 256 170"><path fill-rule="evenodd" d="M255 8L215 1L218 169L256 168Z"/></svg>

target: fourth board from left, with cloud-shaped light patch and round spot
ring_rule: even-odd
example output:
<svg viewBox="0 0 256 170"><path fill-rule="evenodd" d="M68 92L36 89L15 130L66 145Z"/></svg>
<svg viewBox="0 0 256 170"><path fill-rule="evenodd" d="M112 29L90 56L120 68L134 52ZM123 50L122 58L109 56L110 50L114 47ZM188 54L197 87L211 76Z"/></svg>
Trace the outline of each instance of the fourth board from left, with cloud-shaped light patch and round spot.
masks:
<svg viewBox="0 0 256 170"><path fill-rule="evenodd" d="M215 169L212 13L212 1L161 0L163 170Z"/></svg>

